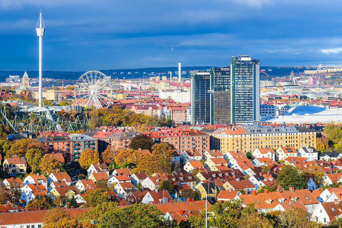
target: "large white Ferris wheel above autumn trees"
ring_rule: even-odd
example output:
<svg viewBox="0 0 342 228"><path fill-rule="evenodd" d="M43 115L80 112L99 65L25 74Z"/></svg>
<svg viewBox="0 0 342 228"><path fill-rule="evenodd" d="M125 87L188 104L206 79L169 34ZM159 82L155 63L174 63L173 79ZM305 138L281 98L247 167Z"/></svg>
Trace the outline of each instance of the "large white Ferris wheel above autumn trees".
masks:
<svg viewBox="0 0 342 228"><path fill-rule="evenodd" d="M113 99L113 85L110 77L98 71L88 71L77 80L75 85L76 104L83 107L100 109L108 107Z"/></svg>

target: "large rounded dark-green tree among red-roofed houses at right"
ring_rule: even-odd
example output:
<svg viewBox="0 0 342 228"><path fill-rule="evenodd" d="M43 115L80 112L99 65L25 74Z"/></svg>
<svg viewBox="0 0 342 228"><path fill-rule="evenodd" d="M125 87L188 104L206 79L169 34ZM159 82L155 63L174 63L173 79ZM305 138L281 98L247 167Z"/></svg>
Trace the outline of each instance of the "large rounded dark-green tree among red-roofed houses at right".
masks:
<svg viewBox="0 0 342 228"><path fill-rule="evenodd" d="M307 186L306 179L298 167L285 165L281 168L277 183L284 189L289 190L290 186L295 189L303 189Z"/></svg>

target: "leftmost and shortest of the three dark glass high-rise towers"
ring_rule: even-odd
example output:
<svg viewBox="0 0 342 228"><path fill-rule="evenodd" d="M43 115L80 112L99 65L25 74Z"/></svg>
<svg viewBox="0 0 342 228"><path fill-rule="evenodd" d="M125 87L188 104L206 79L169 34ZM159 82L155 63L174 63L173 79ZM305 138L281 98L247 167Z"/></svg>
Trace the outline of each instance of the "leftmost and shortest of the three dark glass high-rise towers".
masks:
<svg viewBox="0 0 342 228"><path fill-rule="evenodd" d="M191 124L210 124L210 71L191 73Z"/></svg>

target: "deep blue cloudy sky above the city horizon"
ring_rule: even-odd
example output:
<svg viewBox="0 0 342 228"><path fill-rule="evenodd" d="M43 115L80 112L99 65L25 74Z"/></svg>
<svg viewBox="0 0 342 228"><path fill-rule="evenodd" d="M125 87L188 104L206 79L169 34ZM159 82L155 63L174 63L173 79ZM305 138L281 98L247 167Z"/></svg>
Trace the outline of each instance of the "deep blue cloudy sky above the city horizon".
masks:
<svg viewBox="0 0 342 228"><path fill-rule="evenodd" d="M228 65L342 66L338 0L0 0L0 70Z"/></svg>

